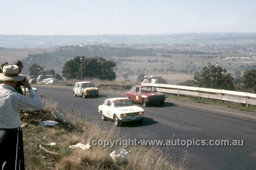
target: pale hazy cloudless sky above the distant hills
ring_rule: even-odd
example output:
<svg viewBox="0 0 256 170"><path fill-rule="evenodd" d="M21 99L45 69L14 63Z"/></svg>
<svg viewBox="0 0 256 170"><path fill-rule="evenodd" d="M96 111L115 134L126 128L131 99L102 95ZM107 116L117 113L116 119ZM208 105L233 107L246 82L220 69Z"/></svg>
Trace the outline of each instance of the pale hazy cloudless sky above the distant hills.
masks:
<svg viewBox="0 0 256 170"><path fill-rule="evenodd" d="M256 32L256 0L1 0L0 34Z"/></svg>

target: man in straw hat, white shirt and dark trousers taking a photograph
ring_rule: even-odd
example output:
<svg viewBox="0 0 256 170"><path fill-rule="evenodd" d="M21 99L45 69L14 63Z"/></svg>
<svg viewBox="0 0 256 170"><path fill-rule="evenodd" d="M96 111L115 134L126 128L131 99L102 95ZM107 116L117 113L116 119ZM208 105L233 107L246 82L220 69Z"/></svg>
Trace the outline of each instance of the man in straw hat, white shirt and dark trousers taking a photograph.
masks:
<svg viewBox="0 0 256 170"><path fill-rule="evenodd" d="M17 65L5 65L0 74L0 168L25 169L23 136L19 110L40 110L40 97L28 80L18 74ZM24 81L23 81L24 80ZM17 82L29 89L31 98L15 90Z"/></svg>

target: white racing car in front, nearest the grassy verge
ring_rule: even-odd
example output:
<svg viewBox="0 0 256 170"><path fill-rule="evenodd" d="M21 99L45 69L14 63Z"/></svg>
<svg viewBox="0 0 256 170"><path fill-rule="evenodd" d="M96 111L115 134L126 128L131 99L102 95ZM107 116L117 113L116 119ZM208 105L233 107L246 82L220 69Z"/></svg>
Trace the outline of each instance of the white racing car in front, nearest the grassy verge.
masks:
<svg viewBox="0 0 256 170"><path fill-rule="evenodd" d="M114 120L116 126L120 126L121 122L137 120L138 123L142 123L144 110L135 106L130 99L111 98L99 105L99 113L102 120L110 118Z"/></svg>

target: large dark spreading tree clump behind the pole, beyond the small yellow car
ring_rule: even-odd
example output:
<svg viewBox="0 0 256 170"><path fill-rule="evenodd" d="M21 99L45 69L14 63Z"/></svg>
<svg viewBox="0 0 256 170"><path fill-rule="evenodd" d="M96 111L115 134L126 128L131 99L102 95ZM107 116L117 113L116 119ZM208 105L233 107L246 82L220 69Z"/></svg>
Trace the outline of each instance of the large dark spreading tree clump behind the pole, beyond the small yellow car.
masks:
<svg viewBox="0 0 256 170"><path fill-rule="evenodd" d="M66 79L77 79L81 77L81 61L82 58L82 76L89 79L115 80L116 73L114 61L106 60L102 57L85 58L75 57L68 60L62 70L62 76Z"/></svg>

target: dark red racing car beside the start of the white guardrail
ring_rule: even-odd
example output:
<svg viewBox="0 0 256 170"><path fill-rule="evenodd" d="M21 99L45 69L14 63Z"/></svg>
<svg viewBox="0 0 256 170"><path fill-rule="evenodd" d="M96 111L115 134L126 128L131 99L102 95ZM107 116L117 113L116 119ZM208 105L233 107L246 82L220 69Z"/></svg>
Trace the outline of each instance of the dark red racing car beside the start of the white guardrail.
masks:
<svg viewBox="0 0 256 170"><path fill-rule="evenodd" d="M148 103L160 103L160 105L163 105L165 94L157 92L154 86L137 85L126 92L126 98L131 99L133 102L142 103L143 106L147 106Z"/></svg>

